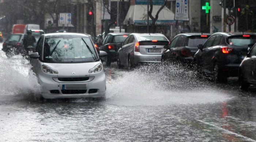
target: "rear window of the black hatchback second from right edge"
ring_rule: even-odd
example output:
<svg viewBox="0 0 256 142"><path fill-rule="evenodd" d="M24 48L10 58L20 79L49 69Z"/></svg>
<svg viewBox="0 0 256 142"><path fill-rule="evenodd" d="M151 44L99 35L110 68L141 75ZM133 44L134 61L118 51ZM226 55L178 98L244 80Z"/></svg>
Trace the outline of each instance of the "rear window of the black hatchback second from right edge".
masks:
<svg viewBox="0 0 256 142"><path fill-rule="evenodd" d="M256 36L255 35L236 35L230 36L227 39L227 43L231 46L248 46L249 44L256 43Z"/></svg>

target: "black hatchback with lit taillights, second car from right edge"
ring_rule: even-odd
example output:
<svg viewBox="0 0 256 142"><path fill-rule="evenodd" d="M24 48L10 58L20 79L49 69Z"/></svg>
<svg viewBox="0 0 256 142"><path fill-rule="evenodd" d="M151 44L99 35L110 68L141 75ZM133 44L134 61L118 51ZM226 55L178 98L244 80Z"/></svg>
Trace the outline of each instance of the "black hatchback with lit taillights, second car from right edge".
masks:
<svg viewBox="0 0 256 142"><path fill-rule="evenodd" d="M256 33L218 32L197 47L194 56L197 69L211 75L216 82L238 76L238 68L248 52L248 45L256 42Z"/></svg>

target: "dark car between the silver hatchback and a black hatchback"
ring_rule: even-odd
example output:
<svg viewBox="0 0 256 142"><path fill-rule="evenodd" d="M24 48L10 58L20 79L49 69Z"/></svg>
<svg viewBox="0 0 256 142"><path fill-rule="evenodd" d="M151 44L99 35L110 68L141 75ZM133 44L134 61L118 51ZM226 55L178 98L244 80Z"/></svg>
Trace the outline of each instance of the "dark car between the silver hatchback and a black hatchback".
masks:
<svg viewBox="0 0 256 142"><path fill-rule="evenodd" d="M181 33L176 35L163 52L162 61L181 61L192 63L193 57L197 52L198 44L203 44L209 33Z"/></svg>

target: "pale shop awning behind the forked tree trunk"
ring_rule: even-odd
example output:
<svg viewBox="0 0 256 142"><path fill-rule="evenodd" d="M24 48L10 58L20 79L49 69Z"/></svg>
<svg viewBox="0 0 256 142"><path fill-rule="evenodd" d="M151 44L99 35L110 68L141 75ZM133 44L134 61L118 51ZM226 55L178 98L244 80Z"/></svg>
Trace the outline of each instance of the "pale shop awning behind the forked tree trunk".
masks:
<svg viewBox="0 0 256 142"><path fill-rule="evenodd" d="M157 11L162 5L153 5L152 16L155 17ZM170 11L167 7L164 7L158 15L158 20L156 24L174 24L174 13ZM179 21L179 23L182 21ZM152 20L149 18L149 23ZM146 25L147 24L147 5L131 5L127 15L124 19L124 24L133 25Z"/></svg>

